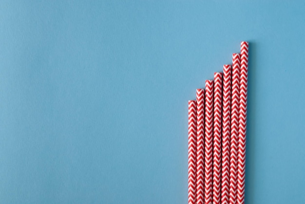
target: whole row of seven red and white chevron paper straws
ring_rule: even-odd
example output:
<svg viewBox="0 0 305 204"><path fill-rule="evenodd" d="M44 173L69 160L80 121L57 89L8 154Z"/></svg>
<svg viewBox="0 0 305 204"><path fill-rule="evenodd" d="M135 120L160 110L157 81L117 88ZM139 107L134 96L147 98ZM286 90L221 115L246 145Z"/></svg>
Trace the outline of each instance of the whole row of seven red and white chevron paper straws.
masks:
<svg viewBox="0 0 305 204"><path fill-rule="evenodd" d="M244 204L248 42L189 101L189 204Z"/></svg>

